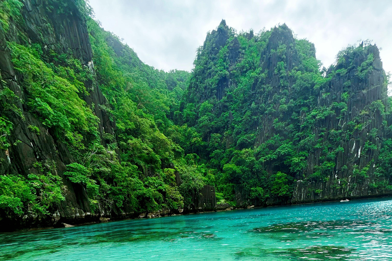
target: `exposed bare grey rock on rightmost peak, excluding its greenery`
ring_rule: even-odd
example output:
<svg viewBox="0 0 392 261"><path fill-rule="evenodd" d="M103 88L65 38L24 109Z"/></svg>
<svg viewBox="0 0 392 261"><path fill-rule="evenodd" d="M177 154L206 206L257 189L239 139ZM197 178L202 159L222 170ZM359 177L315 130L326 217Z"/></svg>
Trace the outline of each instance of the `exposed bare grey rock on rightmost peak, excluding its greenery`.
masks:
<svg viewBox="0 0 392 261"><path fill-rule="evenodd" d="M298 176L295 191L292 196L292 203L304 203L323 200L338 200L342 198L360 198L369 196L389 195L391 191L379 191L370 186L376 179L376 163L378 159L381 140L390 136L383 126L385 119L378 110L371 114L361 112L369 107L374 101L381 100L384 106L387 103L387 86L385 84L385 74L382 70L382 63L378 48L369 46L367 53L357 56L354 66L360 66L366 58L372 54L374 57L373 71L364 79L360 79L358 75L351 70L347 75L341 76L336 74L330 83L330 94L326 99L319 99L320 105L329 106L332 102L340 102L341 95L345 92L344 84L351 83L351 90L354 95L348 100L348 110L344 117L337 119L336 115L325 118L320 126L314 128L314 133L318 133L318 129L326 128L328 131L346 130L348 123L353 121L355 117L360 117L363 122L361 129L356 129L349 139L341 139L340 146L344 151L340 151L336 158L336 167L332 175L325 182L321 181L302 181L302 177ZM340 65L342 68L348 68L349 64ZM338 69L338 68L335 68ZM369 137L372 129L377 129L377 135L374 138ZM364 150L365 142L370 140L378 149ZM315 171L315 166L320 165L320 154L322 148L315 149L309 155L305 176L309 176ZM346 167L344 167L346 166ZM353 175L353 171L358 168L369 166L368 177L362 178Z"/></svg>

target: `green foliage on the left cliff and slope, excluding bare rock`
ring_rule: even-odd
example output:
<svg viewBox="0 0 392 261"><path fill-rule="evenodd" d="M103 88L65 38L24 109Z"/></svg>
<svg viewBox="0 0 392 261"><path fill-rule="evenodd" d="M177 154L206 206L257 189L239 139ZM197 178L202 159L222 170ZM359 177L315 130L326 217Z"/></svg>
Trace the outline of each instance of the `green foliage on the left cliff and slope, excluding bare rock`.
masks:
<svg viewBox="0 0 392 261"><path fill-rule="evenodd" d="M18 3L2 2L4 27L10 17L16 20L20 15L22 6ZM76 5L45 3L51 16L66 16L70 11L87 18L94 68L83 65L70 50L64 52L56 46L48 49L39 43L8 42L8 47L15 69L23 75L20 87L25 96L24 113L33 114L41 128L47 128L42 134L40 126L29 124L29 131L43 138L50 134L55 142L67 144L74 163L68 164L60 176L56 163L48 165L38 159L28 176L10 174L3 178L0 214L14 218L45 216L64 200L63 188L69 182L76 190L84 188L93 213L98 213L99 205L116 213L182 208L184 197L176 175L180 175L178 168L186 168L186 162L181 160L183 149L166 134L174 127L169 118L179 106L189 73L164 72L143 64L131 48L88 17L84 1ZM48 29L53 30L49 25ZM6 114L23 117L15 107L17 96L7 85L4 82L0 90L0 98L5 101L0 105L3 150L12 146L13 123ZM87 102L97 87L108 100L99 105L99 110L116 122L113 132L104 130L100 134L95 105Z"/></svg>

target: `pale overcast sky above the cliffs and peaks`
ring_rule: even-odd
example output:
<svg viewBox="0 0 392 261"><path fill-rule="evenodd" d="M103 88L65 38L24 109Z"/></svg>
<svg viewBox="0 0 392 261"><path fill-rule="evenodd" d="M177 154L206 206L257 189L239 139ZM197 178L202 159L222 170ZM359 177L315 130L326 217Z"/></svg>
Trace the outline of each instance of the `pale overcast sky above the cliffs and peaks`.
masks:
<svg viewBox="0 0 392 261"><path fill-rule="evenodd" d="M105 30L157 69L190 71L196 49L220 20L238 32L286 23L328 67L339 50L370 39L392 71L392 0L90 0Z"/></svg>

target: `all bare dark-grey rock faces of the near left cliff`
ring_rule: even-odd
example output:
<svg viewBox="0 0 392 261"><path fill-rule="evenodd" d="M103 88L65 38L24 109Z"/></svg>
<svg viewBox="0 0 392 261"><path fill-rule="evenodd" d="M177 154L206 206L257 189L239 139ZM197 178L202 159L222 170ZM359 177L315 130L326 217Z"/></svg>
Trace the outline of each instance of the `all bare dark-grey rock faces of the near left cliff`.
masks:
<svg viewBox="0 0 392 261"><path fill-rule="evenodd" d="M72 2L70 2L72 4ZM10 50L7 48L6 41L21 43L26 39L19 39L18 36L25 34L31 43L39 43L44 46L43 51L55 50L57 53L71 53L75 58L82 61L90 70L94 70L92 62L92 49L87 32L86 20L81 16L76 6L71 6L71 12L58 15L56 12L48 11L42 1L24 0L22 16L25 23L11 24L7 35L0 25L0 73L4 82L0 82L0 90L8 87L19 98L13 101L22 116L13 112L7 112L7 116L14 125L13 134L10 142L19 142L11 146L9 150L0 150L0 175L5 173L21 174L27 176L30 173L38 173L34 168L34 163L47 162L56 166L56 172L63 178L65 200L58 206L58 210L53 210L53 217L41 219L40 217L27 216L22 220L0 220L2 227L11 226L16 228L29 226L49 226L61 224L62 221L71 220L71 223L85 222L96 219L90 214L88 197L83 186L72 184L62 173L65 165L70 164L72 156L67 146L56 141L41 122L24 108L21 100L24 93L20 88L22 75L15 73ZM105 133L114 135L115 123L109 119L109 115L100 109L101 105L106 105L107 101L95 82L84 83L89 95L84 99L88 105L94 105L94 114L100 119L99 131L103 145ZM40 135L32 132L28 126L37 126ZM107 211L103 211L104 213ZM0 216L2 214L0 213ZM79 220L79 221L78 221ZM68 223L68 221L67 221Z"/></svg>

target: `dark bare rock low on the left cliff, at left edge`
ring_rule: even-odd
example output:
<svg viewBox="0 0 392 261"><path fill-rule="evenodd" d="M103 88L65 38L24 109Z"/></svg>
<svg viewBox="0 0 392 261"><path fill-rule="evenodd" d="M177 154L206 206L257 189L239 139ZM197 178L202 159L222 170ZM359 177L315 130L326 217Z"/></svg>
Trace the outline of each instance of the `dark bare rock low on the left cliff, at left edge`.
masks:
<svg viewBox="0 0 392 261"><path fill-rule="evenodd" d="M0 60L1 75L4 82L1 84L1 89L8 87L18 97L22 98L23 93L18 84L18 76L15 74L9 49L5 44L4 31L0 29ZM48 133L48 130L36 119L32 114L24 111L21 102L16 102L17 110L20 114L14 111L7 112L8 118L11 119L14 129L10 137L11 143L16 145L11 146L8 150L0 150L1 168L0 173L18 173L28 175L30 173L39 173L39 170L34 167L34 163L40 161L45 162L48 167L54 166L56 172L60 175L65 170L65 165L71 162L71 155L66 146L57 143L54 138ZM28 126L33 125L39 128L41 135L32 132ZM59 221L60 217L84 217L89 213L88 199L84 188L75 186L65 178L63 178L65 188L65 200L59 205L59 209L54 212L51 219L37 220L37 217L23 217L20 220L3 219L2 227L25 227L34 224L37 225L51 225Z"/></svg>

